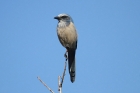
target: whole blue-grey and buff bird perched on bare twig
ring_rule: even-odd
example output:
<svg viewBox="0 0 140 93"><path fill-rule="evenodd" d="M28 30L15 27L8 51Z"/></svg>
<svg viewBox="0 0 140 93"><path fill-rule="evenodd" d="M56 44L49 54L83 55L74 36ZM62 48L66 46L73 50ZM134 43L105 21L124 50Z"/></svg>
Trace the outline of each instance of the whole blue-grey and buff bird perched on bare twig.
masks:
<svg viewBox="0 0 140 93"><path fill-rule="evenodd" d="M77 49L77 31L70 15L62 13L54 17L58 20L57 36L63 47L68 52L68 68L70 80L73 83L76 76L75 54Z"/></svg>

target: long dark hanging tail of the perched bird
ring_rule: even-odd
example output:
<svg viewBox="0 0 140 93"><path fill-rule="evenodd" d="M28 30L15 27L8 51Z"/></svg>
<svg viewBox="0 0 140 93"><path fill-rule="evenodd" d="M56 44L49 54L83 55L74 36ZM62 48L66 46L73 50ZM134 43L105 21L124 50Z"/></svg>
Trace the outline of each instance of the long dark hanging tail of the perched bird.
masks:
<svg viewBox="0 0 140 93"><path fill-rule="evenodd" d="M75 50L69 49L68 50L68 64L69 64L69 74L71 82L73 83L75 81L75 74L76 74L76 68L75 68Z"/></svg>

